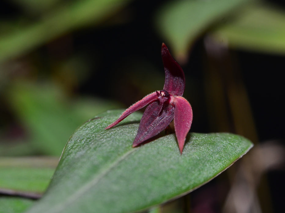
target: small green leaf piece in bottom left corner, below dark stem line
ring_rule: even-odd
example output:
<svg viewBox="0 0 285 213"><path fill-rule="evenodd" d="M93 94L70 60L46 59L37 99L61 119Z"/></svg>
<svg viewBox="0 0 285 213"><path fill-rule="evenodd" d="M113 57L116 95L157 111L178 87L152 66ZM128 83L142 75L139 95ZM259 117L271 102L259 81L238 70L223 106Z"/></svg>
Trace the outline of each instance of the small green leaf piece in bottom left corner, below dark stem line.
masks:
<svg viewBox="0 0 285 213"><path fill-rule="evenodd" d="M0 197L0 213L21 213L35 201L20 197Z"/></svg>

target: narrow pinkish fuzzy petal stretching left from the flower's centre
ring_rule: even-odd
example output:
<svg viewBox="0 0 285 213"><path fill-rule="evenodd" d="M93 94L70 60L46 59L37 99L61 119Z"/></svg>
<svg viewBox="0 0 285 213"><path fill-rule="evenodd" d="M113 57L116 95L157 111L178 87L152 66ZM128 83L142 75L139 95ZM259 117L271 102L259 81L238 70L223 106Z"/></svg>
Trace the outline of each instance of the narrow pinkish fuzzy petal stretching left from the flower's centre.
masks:
<svg viewBox="0 0 285 213"><path fill-rule="evenodd" d="M140 110L144 106L148 105L149 103L152 103L153 101L155 101L157 99L158 99L158 97L157 97L156 92L153 92L153 93L145 96L142 100L134 103L132 106L130 106L128 109L126 109L126 111L124 111L122 113L122 115L114 123L110 124L105 129L109 129L109 128L119 124L119 122L121 122L123 119L125 119L131 113L133 113L133 112L135 112L137 110Z"/></svg>

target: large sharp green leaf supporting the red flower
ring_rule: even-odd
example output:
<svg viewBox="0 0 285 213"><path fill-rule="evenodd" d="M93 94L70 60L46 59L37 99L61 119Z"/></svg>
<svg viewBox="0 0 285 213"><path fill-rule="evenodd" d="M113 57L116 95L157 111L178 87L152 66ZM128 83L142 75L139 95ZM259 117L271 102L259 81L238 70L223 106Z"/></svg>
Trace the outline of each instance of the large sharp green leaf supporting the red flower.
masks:
<svg viewBox="0 0 285 213"><path fill-rule="evenodd" d="M104 129L121 112L102 113L71 135L46 193L28 212L140 211L203 185L252 147L235 134L191 133L182 155L174 134L132 148L141 113Z"/></svg>

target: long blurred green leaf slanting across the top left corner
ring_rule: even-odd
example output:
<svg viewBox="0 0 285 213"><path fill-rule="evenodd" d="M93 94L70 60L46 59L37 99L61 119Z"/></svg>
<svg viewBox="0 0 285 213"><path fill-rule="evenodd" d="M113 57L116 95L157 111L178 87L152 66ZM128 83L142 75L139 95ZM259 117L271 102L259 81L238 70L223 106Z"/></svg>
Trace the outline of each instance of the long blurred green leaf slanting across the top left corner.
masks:
<svg viewBox="0 0 285 213"><path fill-rule="evenodd" d="M82 0L66 2L35 23L0 35L0 63L31 51L64 33L104 21L130 0ZM14 25L18 25L15 23Z"/></svg>

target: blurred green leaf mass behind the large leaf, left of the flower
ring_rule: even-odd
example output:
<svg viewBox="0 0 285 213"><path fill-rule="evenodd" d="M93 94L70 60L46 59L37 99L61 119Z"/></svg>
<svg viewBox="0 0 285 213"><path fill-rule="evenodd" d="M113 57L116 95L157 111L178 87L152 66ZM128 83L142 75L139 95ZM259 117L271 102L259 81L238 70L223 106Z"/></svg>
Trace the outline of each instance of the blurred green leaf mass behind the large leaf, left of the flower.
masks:
<svg viewBox="0 0 285 213"><path fill-rule="evenodd" d="M101 99L68 100L51 84L18 82L6 98L27 126L32 146L40 153L60 155L72 132L90 117L118 105Z"/></svg>

